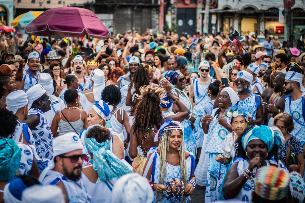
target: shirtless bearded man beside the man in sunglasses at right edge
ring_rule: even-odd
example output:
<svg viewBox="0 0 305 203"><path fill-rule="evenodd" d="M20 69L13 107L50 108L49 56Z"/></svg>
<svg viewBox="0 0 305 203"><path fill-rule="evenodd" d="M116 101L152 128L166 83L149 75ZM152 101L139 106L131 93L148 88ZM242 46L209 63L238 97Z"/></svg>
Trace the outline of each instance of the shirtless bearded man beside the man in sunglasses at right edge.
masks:
<svg viewBox="0 0 305 203"><path fill-rule="evenodd" d="M268 118L268 126L272 126L273 118L280 112L284 112L285 107L285 73L280 73L274 78L273 86L274 93L272 93L268 105L266 107L267 113L269 113Z"/></svg>

